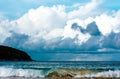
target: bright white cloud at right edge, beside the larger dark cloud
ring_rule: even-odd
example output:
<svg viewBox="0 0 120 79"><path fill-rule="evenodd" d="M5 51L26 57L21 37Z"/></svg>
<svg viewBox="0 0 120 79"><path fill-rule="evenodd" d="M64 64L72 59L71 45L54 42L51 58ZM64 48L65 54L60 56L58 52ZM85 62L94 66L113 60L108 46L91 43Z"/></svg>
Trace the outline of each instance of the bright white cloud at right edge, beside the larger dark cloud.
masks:
<svg viewBox="0 0 120 79"><path fill-rule="evenodd" d="M117 28L119 27L120 23L118 22L119 19L117 18L117 15L109 16L107 14L102 14L97 16L95 21L103 35L110 34L112 31L119 32L119 29Z"/></svg>

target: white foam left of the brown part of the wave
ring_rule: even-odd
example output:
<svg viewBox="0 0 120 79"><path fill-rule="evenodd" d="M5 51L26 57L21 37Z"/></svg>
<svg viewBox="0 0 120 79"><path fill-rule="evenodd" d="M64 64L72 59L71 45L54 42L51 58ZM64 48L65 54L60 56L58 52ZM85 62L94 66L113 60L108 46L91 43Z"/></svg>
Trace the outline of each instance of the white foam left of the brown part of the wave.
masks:
<svg viewBox="0 0 120 79"><path fill-rule="evenodd" d="M44 77L42 70L0 67L0 77Z"/></svg>

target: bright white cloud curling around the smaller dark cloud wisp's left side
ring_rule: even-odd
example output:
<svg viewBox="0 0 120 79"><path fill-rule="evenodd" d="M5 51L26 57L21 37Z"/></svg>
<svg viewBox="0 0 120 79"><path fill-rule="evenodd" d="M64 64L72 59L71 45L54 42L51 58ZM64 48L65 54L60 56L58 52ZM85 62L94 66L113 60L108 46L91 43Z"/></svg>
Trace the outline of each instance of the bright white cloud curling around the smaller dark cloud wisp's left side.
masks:
<svg viewBox="0 0 120 79"><path fill-rule="evenodd" d="M84 34L80 32L79 26L75 26L74 23L80 24L82 22L79 19L69 20L67 22L67 25L64 28L63 36L64 36L64 39L65 38L72 38L72 39L76 38L75 42L81 45L82 43L86 42L90 38L90 34L88 33Z"/></svg>

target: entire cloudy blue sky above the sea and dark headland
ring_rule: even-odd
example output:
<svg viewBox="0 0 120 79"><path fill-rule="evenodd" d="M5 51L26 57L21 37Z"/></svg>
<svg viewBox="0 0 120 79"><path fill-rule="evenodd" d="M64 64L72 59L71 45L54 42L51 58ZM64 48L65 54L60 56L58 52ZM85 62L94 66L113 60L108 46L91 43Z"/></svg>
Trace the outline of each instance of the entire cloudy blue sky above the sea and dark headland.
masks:
<svg viewBox="0 0 120 79"><path fill-rule="evenodd" d="M0 0L0 45L38 61L120 61L120 0Z"/></svg>

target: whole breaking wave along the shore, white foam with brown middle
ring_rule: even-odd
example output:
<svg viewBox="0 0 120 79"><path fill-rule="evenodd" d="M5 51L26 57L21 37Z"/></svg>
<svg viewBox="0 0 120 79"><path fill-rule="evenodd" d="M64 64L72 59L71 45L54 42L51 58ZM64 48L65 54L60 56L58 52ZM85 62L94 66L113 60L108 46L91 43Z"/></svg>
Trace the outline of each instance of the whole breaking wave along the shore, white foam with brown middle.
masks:
<svg viewBox="0 0 120 79"><path fill-rule="evenodd" d="M44 78L44 77L66 77L68 78L81 77L112 77L120 78L120 70L81 70L67 68L39 68L39 69L23 69L14 67L0 67L0 77L29 77L29 78Z"/></svg>

